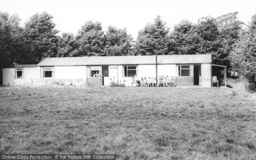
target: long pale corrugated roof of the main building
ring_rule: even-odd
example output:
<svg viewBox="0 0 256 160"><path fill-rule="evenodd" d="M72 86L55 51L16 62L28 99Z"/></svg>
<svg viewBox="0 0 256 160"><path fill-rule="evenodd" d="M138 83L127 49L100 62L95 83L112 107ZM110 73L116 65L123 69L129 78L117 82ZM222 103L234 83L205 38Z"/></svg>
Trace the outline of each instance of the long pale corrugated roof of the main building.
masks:
<svg viewBox="0 0 256 160"><path fill-rule="evenodd" d="M82 66L155 64L155 55L90 56L46 58L37 66ZM158 55L157 64L201 64L211 63L212 55Z"/></svg>

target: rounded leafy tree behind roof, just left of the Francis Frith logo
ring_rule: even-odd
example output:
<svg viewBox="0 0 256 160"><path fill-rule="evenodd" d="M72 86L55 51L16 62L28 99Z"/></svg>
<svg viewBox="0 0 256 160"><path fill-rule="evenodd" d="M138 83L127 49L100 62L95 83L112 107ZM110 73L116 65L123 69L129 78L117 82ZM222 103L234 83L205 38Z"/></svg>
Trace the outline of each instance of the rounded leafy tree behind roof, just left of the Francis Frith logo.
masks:
<svg viewBox="0 0 256 160"><path fill-rule="evenodd" d="M170 35L171 51L175 54L199 54L202 38L197 33L197 26L188 20L182 20L174 27Z"/></svg>

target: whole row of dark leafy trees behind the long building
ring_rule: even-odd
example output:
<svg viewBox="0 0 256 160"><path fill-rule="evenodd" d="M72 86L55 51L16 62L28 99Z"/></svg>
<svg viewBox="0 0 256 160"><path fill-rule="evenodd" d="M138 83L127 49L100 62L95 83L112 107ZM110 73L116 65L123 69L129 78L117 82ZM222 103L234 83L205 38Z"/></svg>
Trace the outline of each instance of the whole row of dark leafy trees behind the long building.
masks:
<svg viewBox="0 0 256 160"><path fill-rule="evenodd" d="M157 16L134 40L126 29L87 21L76 35L58 36L53 16L36 13L20 27L20 18L0 12L0 63L36 64L46 57L212 54L214 64L226 65L247 77L256 88L256 15L242 28L219 30L212 20L204 26L182 20L170 30ZM248 71L249 70L249 71Z"/></svg>

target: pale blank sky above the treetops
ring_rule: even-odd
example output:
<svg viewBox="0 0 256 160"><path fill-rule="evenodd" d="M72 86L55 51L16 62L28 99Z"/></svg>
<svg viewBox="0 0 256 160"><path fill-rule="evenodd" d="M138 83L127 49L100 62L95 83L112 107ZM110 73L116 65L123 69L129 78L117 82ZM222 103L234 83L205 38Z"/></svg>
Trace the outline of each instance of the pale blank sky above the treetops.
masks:
<svg viewBox="0 0 256 160"><path fill-rule="evenodd" d="M17 14L20 26L35 13L48 12L56 29L74 35L89 20L108 26L126 28L134 39L147 23L160 15L172 30L181 20L198 23L201 17L218 17L238 12L237 20L248 24L256 14L255 0L0 0L0 11Z"/></svg>

